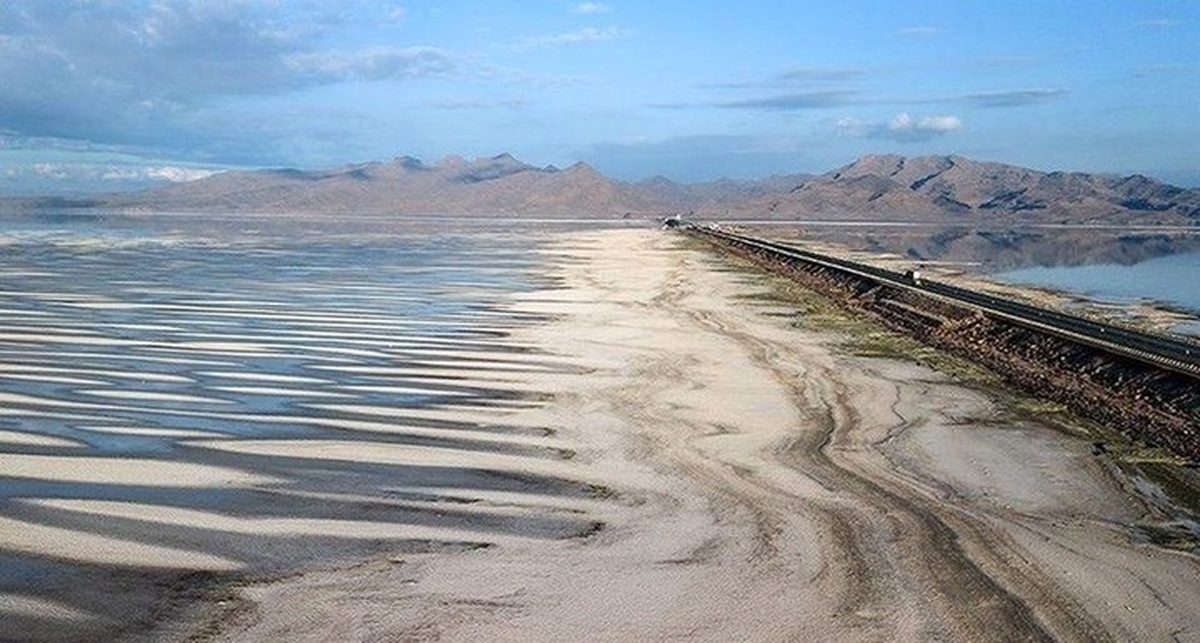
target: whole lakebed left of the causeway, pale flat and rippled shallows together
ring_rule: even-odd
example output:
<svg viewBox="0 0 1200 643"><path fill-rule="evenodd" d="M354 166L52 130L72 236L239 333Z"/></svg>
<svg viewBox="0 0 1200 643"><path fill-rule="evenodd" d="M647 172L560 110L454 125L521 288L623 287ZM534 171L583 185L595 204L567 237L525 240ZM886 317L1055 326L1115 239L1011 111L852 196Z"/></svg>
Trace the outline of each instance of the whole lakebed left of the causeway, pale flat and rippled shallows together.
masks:
<svg viewBox="0 0 1200 643"><path fill-rule="evenodd" d="M244 247L212 290L10 263L48 282L5 282L4 633L1200 636L1196 558L1139 540L1172 516L1088 441L673 235L500 241L294 278ZM494 270L413 317L418 262Z"/></svg>

